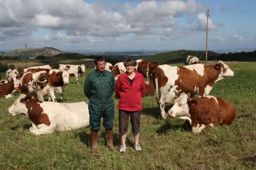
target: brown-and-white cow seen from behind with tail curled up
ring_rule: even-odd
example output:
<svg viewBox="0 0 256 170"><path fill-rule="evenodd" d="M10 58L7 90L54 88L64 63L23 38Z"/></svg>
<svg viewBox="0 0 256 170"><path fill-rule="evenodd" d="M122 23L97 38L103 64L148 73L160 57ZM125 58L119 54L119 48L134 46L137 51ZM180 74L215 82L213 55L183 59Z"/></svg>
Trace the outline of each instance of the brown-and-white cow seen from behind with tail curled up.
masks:
<svg viewBox="0 0 256 170"><path fill-rule="evenodd" d="M19 84L20 94L37 96L39 101L44 101L43 96L50 94L51 99L56 101L52 81L52 77L46 71L26 72L21 77Z"/></svg>

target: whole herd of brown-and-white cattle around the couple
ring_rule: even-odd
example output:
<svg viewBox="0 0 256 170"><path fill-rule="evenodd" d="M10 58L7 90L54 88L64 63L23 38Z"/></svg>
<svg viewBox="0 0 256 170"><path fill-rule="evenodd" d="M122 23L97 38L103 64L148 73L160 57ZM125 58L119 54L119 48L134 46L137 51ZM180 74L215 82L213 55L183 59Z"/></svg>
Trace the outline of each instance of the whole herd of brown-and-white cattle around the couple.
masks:
<svg viewBox="0 0 256 170"><path fill-rule="evenodd" d="M135 69L149 80L145 82L143 97L154 95L156 91L161 117L187 119L196 133L205 127L230 125L236 116L234 106L221 97L209 96L209 93L217 81L233 77L234 72L223 61L203 65L195 56L188 56L185 65L177 67L137 60ZM63 100L69 77L75 76L78 84L87 68L84 65L59 65L58 69L53 69L45 65L23 69L20 74L9 69L6 71L7 80L0 81L0 97L7 99L15 91L20 92L8 112L27 116L32 122L29 130L35 135L52 133L56 126L59 130L88 127L89 111L85 102L58 103L54 95L56 91ZM105 69L114 75L115 80L126 72L123 62L114 66L106 63ZM44 101L47 96L48 101ZM166 113L165 104L172 103L174 98L173 107Z"/></svg>

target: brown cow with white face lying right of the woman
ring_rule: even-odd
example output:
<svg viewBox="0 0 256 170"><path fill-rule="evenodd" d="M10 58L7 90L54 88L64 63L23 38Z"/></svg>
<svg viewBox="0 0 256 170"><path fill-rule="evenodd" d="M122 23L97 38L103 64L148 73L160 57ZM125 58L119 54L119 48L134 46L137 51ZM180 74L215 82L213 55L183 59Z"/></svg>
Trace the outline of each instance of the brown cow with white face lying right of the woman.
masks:
<svg viewBox="0 0 256 170"><path fill-rule="evenodd" d="M169 116L187 119L192 131L201 132L205 127L230 125L236 116L235 107L221 97L189 98L182 93L168 111Z"/></svg>

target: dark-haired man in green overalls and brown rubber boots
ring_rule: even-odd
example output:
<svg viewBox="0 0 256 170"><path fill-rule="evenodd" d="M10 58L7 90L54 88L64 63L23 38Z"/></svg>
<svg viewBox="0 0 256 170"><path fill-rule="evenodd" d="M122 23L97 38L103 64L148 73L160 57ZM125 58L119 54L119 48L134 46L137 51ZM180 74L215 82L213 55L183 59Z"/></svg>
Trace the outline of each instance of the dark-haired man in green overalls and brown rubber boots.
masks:
<svg viewBox="0 0 256 170"><path fill-rule="evenodd" d="M89 73L84 83L84 94L89 99L92 153L97 153L98 130L103 117L103 127L106 130L107 144L111 151L113 146L114 101L112 95L115 88L114 75L105 70L106 62L102 56L94 58L96 69Z"/></svg>

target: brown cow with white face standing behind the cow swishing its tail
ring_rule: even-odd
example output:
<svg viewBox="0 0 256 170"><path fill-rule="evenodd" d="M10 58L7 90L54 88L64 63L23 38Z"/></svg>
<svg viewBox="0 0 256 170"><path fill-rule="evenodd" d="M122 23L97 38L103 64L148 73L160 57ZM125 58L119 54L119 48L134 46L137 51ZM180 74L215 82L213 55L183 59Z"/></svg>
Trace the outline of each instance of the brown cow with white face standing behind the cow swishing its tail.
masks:
<svg viewBox="0 0 256 170"><path fill-rule="evenodd" d="M46 71L47 74L51 77L48 81L50 81L50 85L53 87L53 90L61 95L61 101L63 101L63 93L65 85L69 84L69 73L64 70L64 72L58 69L28 69L27 72L39 72ZM50 95L50 94L49 94ZM48 101L51 101L49 96Z"/></svg>

